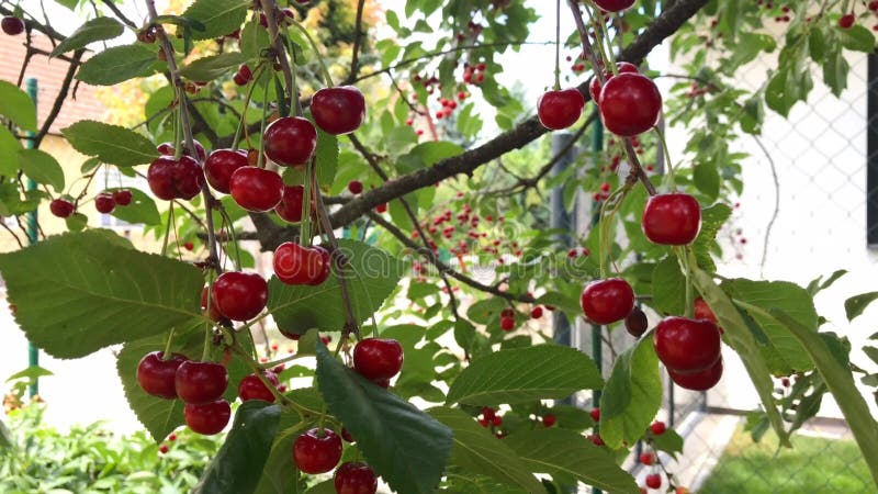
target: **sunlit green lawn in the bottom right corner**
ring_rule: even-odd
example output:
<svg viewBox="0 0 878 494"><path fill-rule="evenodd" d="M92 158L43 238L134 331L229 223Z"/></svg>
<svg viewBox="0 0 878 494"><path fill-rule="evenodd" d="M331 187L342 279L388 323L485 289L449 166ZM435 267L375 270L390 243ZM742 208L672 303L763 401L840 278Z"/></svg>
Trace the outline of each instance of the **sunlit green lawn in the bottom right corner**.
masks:
<svg viewBox="0 0 878 494"><path fill-rule="evenodd" d="M795 436L777 450L777 437L756 444L739 428L700 494L876 494L878 489L853 440Z"/></svg>

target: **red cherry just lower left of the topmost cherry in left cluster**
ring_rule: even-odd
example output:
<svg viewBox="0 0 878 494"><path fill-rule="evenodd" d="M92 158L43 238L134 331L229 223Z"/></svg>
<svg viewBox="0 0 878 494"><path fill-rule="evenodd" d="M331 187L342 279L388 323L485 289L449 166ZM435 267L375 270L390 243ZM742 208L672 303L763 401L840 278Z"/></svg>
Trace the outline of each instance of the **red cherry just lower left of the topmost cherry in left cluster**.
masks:
<svg viewBox="0 0 878 494"><path fill-rule="evenodd" d="M317 148L317 130L301 116L275 120L266 128L263 138L266 156L284 167L306 164Z"/></svg>

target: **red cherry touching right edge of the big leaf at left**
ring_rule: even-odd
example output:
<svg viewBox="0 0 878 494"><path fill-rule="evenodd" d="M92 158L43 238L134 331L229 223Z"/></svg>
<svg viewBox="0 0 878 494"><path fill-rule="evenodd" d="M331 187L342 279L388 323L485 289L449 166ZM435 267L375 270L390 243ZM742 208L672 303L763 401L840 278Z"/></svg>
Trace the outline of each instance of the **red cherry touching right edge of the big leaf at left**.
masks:
<svg viewBox="0 0 878 494"><path fill-rule="evenodd" d="M226 271L214 281L211 296L221 314L232 321L247 321L266 307L268 283L257 273Z"/></svg>

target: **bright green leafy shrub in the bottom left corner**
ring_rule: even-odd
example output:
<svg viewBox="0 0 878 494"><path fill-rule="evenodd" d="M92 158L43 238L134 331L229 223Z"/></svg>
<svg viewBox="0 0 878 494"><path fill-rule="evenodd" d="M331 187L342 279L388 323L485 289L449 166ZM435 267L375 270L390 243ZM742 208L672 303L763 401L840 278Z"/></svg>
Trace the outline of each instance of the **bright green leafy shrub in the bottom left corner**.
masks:
<svg viewBox="0 0 878 494"><path fill-rule="evenodd" d="M9 414L10 445L0 441L4 494L191 492L223 438L180 430L162 442L162 453L146 433L119 436L100 422L60 433L43 422L43 409Z"/></svg>

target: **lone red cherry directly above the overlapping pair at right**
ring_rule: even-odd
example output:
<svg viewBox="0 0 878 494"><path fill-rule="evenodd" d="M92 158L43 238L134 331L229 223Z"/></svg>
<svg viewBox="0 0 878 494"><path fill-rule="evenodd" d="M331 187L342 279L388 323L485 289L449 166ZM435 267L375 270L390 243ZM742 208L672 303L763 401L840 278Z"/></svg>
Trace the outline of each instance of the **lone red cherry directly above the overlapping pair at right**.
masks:
<svg viewBox="0 0 878 494"><path fill-rule="evenodd" d="M689 194L653 195L643 210L642 226L653 244L690 244L701 229L701 206Z"/></svg>

